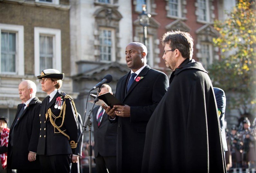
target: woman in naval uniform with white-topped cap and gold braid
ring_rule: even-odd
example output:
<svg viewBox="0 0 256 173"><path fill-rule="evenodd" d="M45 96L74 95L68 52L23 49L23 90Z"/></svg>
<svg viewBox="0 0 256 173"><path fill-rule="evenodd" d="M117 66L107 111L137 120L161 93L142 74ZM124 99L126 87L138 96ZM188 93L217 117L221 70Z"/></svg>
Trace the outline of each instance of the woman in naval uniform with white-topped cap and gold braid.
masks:
<svg viewBox="0 0 256 173"><path fill-rule="evenodd" d="M75 104L69 95L60 92L64 73L55 69L41 72L42 90L47 97L40 110L40 134L37 154L43 173L69 173L71 154L75 153L78 137L78 119Z"/></svg>

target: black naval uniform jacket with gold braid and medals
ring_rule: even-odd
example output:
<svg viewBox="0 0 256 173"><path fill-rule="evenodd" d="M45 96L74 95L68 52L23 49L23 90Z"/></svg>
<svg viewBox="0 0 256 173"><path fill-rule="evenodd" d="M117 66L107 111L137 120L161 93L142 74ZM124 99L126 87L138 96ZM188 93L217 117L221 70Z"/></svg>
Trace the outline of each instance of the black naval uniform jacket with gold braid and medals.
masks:
<svg viewBox="0 0 256 173"><path fill-rule="evenodd" d="M61 94L58 90L50 103L47 104L47 97L42 101L42 107L39 115L40 135L37 147L37 154L39 155L75 154L76 147L71 149L70 144L77 143L78 120L70 99L64 99L64 95ZM66 103L65 118L63 126L60 128L60 130L67 134L70 139L60 133L57 128L54 128L50 122L50 117L46 119L45 116L49 108L51 109L54 116L59 116L61 109L54 108L56 99L59 97L61 97ZM55 119L53 117L53 120L57 126L60 126L62 123L63 111L60 118Z"/></svg>

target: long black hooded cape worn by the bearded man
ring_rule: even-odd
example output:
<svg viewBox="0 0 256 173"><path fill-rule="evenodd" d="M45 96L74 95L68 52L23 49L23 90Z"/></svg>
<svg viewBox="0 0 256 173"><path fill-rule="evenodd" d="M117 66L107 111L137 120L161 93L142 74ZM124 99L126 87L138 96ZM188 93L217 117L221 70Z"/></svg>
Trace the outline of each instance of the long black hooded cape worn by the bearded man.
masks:
<svg viewBox="0 0 256 173"><path fill-rule="evenodd" d="M148 122L142 172L226 172L217 105L206 70L187 59L170 81Z"/></svg>

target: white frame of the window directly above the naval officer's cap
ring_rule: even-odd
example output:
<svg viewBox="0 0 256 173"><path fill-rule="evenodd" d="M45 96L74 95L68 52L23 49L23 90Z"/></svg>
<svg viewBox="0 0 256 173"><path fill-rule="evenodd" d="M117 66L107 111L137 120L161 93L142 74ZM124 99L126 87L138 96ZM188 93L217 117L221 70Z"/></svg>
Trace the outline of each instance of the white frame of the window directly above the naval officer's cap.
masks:
<svg viewBox="0 0 256 173"><path fill-rule="evenodd" d="M34 57L35 57L35 69L34 75L40 75L40 34L53 36L53 59L52 68L61 72L61 30L51 28L34 28ZM40 69L40 70L39 70Z"/></svg>

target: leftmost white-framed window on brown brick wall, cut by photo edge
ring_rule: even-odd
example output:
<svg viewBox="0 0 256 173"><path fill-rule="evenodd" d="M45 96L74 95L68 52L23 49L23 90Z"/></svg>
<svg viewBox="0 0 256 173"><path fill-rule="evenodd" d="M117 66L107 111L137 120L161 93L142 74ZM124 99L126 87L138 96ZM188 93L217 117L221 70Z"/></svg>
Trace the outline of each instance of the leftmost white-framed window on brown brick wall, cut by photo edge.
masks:
<svg viewBox="0 0 256 173"><path fill-rule="evenodd" d="M0 73L24 75L24 29L0 23Z"/></svg>

